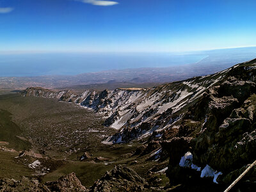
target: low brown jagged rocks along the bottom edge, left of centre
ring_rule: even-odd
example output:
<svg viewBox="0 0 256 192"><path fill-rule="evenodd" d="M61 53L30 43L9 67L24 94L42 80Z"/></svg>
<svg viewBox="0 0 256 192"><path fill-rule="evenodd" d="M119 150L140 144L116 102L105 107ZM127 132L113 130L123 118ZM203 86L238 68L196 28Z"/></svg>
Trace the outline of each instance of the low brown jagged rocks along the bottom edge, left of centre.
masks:
<svg viewBox="0 0 256 192"><path fill-rule="evenodd" d="M115 166L110 172L97 180L91 188L82 186L75 173L63 176L52 182L40 184L38 180L23 177L21 180L0 180L0 191L160 191L150 188L145 179L141 178L134 170L125 166Z"/></svg>

